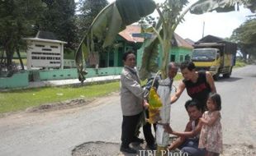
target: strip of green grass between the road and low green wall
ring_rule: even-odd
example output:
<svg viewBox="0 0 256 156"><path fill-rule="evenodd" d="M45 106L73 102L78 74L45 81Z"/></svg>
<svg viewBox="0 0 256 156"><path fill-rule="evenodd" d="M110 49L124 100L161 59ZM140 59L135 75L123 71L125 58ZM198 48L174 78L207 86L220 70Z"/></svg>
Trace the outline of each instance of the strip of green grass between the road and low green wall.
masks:
<svg viewBox="0 0 256 156"><path fill-rule="evenodd" d="M178 73L175 80L181 80ZM146 80L141 82L146 84ZM33 89L13 89L0 92L0 113L17 112L26 108L40 106L46 103L56 103L68 99L92 99L101 97L120 89L120 82L92 84L83 86L42 87Z"/></svg>

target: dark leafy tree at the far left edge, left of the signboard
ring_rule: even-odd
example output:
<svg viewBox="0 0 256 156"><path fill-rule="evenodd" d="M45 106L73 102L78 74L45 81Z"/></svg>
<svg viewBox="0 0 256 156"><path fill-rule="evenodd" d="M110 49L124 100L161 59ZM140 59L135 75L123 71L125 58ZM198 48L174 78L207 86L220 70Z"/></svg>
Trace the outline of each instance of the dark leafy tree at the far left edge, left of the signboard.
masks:
<svg viewBox="0 0 256 156"><path fill-rule="evenodd" d="M32 25L40 15L43 4L40 0L8 0L0 2L0 48L2 50L1 70L12 71L12 56L24 47L22 39L33 34ZM6 59L3 58L4 53ZM18 53L19 54L19 53Z"/></svg>

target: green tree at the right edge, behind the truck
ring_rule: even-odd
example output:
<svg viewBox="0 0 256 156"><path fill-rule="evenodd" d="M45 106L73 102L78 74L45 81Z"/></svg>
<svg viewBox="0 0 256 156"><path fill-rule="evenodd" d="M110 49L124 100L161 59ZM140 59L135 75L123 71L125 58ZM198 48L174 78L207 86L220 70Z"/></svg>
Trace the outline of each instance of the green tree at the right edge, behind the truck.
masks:
<svg viewBox="0 0 256 156"><path fill-rule="evenodd" d="M256 18L245 21L233 31L231 38L238 44L244 60L246 60L247 55L249 58L252 55L256 56L256 44L254 42L256 40Z"/></svg>

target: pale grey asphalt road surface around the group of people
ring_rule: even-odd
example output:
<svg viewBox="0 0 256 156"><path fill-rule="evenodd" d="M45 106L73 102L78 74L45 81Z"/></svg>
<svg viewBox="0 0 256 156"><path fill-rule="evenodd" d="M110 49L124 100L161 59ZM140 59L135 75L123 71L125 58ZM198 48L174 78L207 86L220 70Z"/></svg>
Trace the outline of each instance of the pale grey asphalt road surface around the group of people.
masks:
<svg viewBox="0 0 256 156"><path fill-rule="evenodd" d="M178 85L178 82L175 82ZM256 147L256 66L233 71L230 79L216 82L222 98L224 144ZM188 117L186 91L174 103L171 124L183 131ZM143 136L142 136L143 137ZM120 143L119 93L94 100L83 107L48 112L18 112L0 118L0 155L65 156L88 141ZM250 154L249 154L250 155Z"/></svg>

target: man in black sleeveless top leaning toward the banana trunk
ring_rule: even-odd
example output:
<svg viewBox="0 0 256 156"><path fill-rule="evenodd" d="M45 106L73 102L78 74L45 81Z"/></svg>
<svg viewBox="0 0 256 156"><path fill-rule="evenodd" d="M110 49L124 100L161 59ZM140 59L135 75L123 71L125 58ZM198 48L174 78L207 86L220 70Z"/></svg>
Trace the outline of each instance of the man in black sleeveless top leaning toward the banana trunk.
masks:
<svg viewBox="0 0 256 156"><path fill-rule="evenodd" d="M196 71L193 62L183 62L180 69L184 80L178 85L176 94L171 98L171 103L175 103L186 88L187 94L192 99L197 99L201 103L201 110L206 110L208 94L216 93L216 87L211 73L208 71Z"/></svg>

